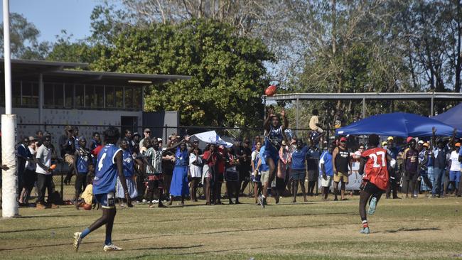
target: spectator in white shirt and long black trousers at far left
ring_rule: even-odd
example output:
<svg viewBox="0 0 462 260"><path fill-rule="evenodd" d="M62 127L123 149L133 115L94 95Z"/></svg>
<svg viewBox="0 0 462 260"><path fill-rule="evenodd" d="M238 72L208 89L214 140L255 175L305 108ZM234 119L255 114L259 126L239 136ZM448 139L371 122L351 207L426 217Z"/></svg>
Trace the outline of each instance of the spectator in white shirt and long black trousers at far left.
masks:
<svg viewBox="0 0 462 260"><path fill-rule="evenodd" d="M50 191L53 190L52 181L53 175L50 170L51 166L51 151L50 151L50 137L45 137L43 139L43 144L38 147L36 158L37 158L37 209L45 209L45 190L48 189L48 202L50 202ZM53 207L53 205L52 205Z"/></svg>

